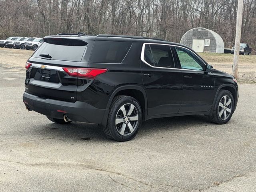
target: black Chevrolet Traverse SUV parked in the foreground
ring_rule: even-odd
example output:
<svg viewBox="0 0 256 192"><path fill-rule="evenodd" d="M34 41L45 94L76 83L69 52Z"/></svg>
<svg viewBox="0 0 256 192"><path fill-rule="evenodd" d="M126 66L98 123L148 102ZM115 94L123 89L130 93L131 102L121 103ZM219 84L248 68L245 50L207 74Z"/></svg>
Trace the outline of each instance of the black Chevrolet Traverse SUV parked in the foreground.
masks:
<svg viewBox="0 0 256 192"><path fill-rule="evenodd" d="M26 62L27 110L59 124L103 125L132 139L152 118L204 114L227 123L238 101L236 79L187 46L138 36L44 37Z"/></svg>

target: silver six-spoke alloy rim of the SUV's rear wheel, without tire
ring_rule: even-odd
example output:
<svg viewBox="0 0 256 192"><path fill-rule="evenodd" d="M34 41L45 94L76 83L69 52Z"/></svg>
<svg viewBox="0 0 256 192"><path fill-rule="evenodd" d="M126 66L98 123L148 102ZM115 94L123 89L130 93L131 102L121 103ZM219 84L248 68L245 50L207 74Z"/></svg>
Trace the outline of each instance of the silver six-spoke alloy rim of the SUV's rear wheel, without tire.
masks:
<svg viewBox="0 0 256 192"><path fill-rule="evenodd" d="M122 136L128 136L136 130L138 126L138 110L130 103L121 106L116 114L116 130Z"/></svg>

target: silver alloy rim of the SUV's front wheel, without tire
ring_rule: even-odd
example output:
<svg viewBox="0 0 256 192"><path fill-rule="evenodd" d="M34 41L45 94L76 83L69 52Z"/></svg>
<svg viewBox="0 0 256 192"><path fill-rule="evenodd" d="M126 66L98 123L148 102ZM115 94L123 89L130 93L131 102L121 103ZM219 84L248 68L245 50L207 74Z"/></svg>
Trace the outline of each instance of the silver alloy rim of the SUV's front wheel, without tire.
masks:
<svg viewBox="0 0 256 192"><path fill-rule="evenodd" d="M232 111L232 100L229 96L225 95L220 99L218 106L219 117L222 120L226 120Z"/></svg>

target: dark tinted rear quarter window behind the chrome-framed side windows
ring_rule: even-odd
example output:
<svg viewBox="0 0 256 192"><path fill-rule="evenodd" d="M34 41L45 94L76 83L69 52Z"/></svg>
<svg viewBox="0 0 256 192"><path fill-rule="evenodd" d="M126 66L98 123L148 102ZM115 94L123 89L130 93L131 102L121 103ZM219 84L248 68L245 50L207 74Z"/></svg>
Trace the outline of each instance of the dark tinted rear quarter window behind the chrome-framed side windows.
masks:
<svg viewBox="0 0 256 192"><path fill-rule="evenodd" d="M131 42L95 41L89 62L120 63L131 46Z"/></svg>

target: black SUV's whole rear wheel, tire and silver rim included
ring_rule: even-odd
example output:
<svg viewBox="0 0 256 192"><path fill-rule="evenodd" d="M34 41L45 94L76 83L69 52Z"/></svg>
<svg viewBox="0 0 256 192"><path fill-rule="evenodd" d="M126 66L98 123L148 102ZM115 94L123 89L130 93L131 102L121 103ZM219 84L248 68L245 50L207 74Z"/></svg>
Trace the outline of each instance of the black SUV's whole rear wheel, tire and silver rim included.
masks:
<svg viewBox="0 0 256 192"><path fill-rule="evenodd" d="M128 141L136 136L141 123L142 110L139 102L133 97L120 95L112 101L108 122L103 131L112 140Z"/></svg>

